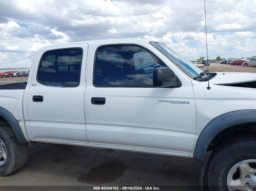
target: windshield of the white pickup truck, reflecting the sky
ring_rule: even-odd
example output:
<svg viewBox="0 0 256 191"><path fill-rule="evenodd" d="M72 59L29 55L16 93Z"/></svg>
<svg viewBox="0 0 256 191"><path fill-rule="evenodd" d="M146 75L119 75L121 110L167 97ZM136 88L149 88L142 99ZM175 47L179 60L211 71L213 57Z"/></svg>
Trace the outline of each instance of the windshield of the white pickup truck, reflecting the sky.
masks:
<svg viewBox="0 0 256 191"><path fill-rule="evenodd" d="M185 72L192 79L194 79L196 76L200 75L201 72L203 72L196 65L194 65L193 63L189 62L185 58L178 55L176 52L174 52L165 44L156 43L156 42L151 42L151 44L155 46L155 48L160 50L161 53L163 53L167 58L169 58L176 66L178 66L183 72ZM205 76L202 76L201 78Z"/></svg>

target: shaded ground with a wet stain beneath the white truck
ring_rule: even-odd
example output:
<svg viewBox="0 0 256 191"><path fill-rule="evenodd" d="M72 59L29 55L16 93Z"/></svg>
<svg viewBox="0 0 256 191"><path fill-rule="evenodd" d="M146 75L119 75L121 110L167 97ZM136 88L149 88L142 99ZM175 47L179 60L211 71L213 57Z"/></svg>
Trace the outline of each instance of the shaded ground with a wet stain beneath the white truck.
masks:
<svg viewBox="0 0 256 191"><path fill-rule="evenodd" d="M184 186L161 190L199 190L195 186L199 185L201 163L192 158L46 143L29 143L29 151L25 166L0 177L0 185Z"/></svg>

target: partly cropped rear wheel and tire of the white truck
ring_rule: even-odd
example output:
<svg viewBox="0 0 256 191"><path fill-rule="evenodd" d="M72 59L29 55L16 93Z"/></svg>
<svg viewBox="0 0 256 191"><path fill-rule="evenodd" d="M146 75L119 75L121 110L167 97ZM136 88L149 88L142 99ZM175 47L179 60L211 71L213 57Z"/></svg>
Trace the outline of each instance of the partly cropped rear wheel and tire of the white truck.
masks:
<svg viewBox="0 0 256 191"><path fill-rule="evenodd" d="M12 128L0 127L0 176L14 173L25 165L28 160L28 144L20 143ZM3 153L5 157L3 157Z"/></svg>

